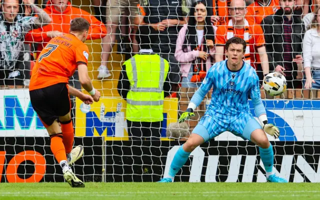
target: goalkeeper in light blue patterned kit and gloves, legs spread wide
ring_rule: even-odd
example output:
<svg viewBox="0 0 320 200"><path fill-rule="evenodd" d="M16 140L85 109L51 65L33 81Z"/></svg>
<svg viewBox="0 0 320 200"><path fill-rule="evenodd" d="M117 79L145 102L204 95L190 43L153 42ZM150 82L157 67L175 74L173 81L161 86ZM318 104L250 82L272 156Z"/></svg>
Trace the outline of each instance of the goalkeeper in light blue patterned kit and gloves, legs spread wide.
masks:
<svg viewBox="0 0 320 200"><path fill-rule="evenodd" d="M159 182L172 182L174 175L186 162L192 150L224 131L230 131L259 146L268 182L287 182L272 171L273 150L264 131L277 138L279 129L267 123L265 108L260 97L258 76L254 68L242 60L245 47L246 42L239 37L232 37L226 41L225 53L228 59L216 62L209 69L201 86L192 96L186 112L179 118L179 122L194 116L193 110L213 86L210 105L188 140L175 153L168 176ZM248 94L251 96L255 114L263 124L264 131L249 111Z"/></svg>

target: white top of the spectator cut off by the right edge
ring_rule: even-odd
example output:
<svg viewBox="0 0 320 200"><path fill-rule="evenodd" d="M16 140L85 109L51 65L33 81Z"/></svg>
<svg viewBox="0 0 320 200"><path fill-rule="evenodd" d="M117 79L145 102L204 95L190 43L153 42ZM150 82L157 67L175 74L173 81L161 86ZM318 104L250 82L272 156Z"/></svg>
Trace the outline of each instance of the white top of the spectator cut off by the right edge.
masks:
<svg viewBox="0 0 320 200"><path fill-rule="evenodd" d="M320 36L316 28L307 30L303 37L303 65L320 69Z"/></svg>

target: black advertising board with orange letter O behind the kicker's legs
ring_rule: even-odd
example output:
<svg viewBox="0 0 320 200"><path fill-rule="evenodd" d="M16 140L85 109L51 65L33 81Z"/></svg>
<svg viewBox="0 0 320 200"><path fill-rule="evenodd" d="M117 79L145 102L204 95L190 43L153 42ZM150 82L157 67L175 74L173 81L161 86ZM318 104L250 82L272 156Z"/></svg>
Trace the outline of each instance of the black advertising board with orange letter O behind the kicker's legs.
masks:
<svg viewBox="0 0 320 200"><path fill-rule="evenodd" d="M103 137L75 137L85 154L72 167L84 181L100 182L104 170ZM64 182L49 137L0 137L0 182Z"/></svg>

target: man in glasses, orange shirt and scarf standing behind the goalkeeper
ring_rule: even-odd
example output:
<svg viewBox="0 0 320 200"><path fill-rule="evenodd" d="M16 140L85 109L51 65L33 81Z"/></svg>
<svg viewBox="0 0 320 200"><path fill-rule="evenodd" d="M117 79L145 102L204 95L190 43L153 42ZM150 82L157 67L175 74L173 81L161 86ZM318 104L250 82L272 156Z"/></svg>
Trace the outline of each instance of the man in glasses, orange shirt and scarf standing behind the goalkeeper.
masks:
<svg viewBox="0 0 320 200"><path fill-rule="evenodd" d="M229 38L240 37L247 43L244 61L256 68L259 79L262 80L263 76L269 73L263 31L260 25L252 25L244 18L245 11L244 0L231 1L229 8L231 19L227 21L227 25L219 26L215 34L215 59L216 62L223 60L224 45Z"/></svg>

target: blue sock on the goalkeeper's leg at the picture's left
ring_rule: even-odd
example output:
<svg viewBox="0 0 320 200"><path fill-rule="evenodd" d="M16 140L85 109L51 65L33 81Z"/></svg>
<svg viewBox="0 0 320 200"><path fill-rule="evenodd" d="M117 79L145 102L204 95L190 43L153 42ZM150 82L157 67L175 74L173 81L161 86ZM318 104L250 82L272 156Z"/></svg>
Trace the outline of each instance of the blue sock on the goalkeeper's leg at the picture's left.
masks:
<svg viewBox="0 0 320 200"><path fill-rule="evenodd" d="M185 152L182 148L183 144L176 151L173 160L169 168L169 178L174 178L175 174L180 170L180 168L185 164L191 152Z"/></svg>

